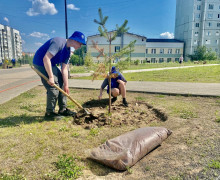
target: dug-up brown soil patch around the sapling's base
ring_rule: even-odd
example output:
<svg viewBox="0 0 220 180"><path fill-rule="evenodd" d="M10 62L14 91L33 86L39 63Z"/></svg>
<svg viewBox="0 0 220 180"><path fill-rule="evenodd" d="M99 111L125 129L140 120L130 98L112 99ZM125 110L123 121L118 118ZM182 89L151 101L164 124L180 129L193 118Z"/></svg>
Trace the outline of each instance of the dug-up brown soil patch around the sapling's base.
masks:
<svg viewBox="0 0 220 180"><path fill-rule="evenodd" d="M82 125L86 129L101 126L123 126L132 125L142 127L152 121L166 121L167 115L161 109L144 102L129 102L128 107L124 107L120 102L112 105L111 113L108 113L108 99L97 101L91 100L84 104L84 107L91 113L77 113L73 123Z"/></svg>

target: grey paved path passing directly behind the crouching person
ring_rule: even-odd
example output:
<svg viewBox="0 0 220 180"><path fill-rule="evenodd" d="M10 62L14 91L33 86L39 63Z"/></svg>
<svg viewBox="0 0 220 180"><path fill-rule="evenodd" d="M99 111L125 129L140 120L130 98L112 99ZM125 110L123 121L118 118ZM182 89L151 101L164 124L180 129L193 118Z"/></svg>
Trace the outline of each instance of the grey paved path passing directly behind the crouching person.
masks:
<svg viewBox="0 0 220 180"><path fill-rule="evenodd" d="M102 80L70 79L69 87L100 89L102 82ZM126 87L130 92L220 97L220 83L129 81Z"/></svg>

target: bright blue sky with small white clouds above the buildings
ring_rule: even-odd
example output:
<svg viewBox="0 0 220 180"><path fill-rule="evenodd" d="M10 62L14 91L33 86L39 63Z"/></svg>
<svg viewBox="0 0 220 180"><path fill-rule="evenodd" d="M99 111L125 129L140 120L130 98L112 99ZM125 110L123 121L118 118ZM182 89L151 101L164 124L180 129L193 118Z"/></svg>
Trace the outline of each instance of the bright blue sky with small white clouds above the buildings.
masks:
<svg viewBox="0 0 220 180"><path fill-rule="evenodd" d="M74 31L99 34L98 9L106 27L128 20L128 32L147 38L173 38L176 0L66 0L68 37ZM35 52L53 37L66 37L65 0L0 0L0 24L20 31L23 52Z"/></svg>

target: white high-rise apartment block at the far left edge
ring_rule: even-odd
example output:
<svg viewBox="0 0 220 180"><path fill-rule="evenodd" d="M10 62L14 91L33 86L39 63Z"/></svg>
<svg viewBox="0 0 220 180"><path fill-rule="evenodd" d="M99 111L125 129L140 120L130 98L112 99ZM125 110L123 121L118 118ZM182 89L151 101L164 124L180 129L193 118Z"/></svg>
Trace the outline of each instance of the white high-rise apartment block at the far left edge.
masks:
<svg viewBox="0 0 220 180"><path fill-rule="evenodd" d="M18 60L22 56L22 41L18 30L0 24L0 62Z"/></svg>

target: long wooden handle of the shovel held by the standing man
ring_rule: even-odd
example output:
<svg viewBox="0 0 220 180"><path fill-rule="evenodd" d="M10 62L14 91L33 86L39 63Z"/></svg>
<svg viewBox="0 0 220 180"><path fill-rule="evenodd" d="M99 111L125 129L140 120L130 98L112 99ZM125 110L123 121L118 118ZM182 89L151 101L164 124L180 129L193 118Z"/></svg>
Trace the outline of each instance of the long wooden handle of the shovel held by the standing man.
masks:
<svg viewBox="0 0 220 180"><path fill-rule="evenodd" d="M44 78L44 80L49 81L49 79L43 75L40 71L38 71L34 66L31 66L31 68L42 78ZM86 113L86 115L91 115L90 112L88 112L85 108L83 108L78 102L76 102L73 98L70 97L69 94L67 94L64 90L62 90L59 86L57 86L56 84L53 85L56 89L58 89L61 93L63 93L65 96L67 96L74 104L76 104L84 113Z"/></svg>

